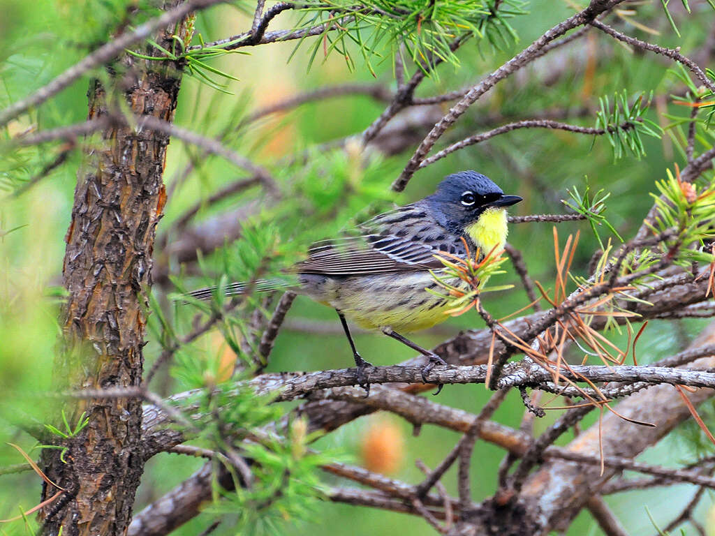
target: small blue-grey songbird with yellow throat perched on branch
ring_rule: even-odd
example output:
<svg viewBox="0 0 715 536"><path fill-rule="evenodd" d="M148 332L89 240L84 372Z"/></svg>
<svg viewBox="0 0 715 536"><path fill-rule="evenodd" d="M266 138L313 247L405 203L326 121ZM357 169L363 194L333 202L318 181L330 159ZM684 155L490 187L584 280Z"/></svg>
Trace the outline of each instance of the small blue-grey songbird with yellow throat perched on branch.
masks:
<svg viewBox="0 0 715 536"><path fill-rule="evenodd" d="M445 364L444 360L401 333L432 327L448 318L445 311L450 304L427 290L439 287L430 270L438 273L445 268L438 258L443 252L465 259L465 243L482 254L503 249L506 207L520 201L521 197L504 194L483 174L449 175L434 194L379 214L337 239L313 244L307 259L290 269L298 281L291 289L337 311L365 389L369 388L365 369L372 365L355 349L347 320L366 329L380 329L428 357L424 377L435 364ZM450 283L462 284L456 278ZM258 291L280 287L287 284L252 284ZM233 283L226 287L226 294L242 294L246 288L245 283ZM190 295L207 299L214 290L200 289Z"/></svg>

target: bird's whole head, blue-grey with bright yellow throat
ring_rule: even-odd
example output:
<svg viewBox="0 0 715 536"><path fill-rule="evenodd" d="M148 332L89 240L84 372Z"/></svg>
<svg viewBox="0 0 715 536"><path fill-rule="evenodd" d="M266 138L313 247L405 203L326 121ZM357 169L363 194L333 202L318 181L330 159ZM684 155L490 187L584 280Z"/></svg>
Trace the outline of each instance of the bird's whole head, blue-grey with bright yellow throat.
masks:
<svg viewBox="0 0 715 536"><path fill-rule="evenodd" d="M483 174L465 171L448 175L437 192L426 199L437 222L450 231L465 234L483 252L506 242L506 207L521 201L504 194Z"/></svg>

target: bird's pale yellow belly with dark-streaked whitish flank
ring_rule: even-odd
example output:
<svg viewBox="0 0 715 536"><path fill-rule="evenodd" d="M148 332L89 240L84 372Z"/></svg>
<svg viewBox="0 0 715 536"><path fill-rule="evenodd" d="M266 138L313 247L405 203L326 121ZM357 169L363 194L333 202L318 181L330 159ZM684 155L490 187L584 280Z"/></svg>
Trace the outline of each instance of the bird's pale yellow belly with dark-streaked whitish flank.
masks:
<svg viewBox="0 0 715 536"><path fill-rule="evenodd" d="M438 289L429 272L360 277L301 275L300 279L305 294L365 329L389 326L396 332L413 332L448 319L448 302L425 290Z"/></svg>

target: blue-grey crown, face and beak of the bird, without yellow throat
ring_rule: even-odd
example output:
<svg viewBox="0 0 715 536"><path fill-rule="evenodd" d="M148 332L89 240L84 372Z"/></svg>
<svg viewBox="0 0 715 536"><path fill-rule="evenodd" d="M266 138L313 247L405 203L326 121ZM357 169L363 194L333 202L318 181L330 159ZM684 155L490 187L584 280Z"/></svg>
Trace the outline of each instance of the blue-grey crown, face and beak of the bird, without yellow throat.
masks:
<svg viewBox="0 0 715 536"><path fill-rule="evenodd" d="M461 232L490 207L510 207L521 201L518 195L504 194L483 174L468 170L448 175L437 192L425 199L438 223Z"/></svg>

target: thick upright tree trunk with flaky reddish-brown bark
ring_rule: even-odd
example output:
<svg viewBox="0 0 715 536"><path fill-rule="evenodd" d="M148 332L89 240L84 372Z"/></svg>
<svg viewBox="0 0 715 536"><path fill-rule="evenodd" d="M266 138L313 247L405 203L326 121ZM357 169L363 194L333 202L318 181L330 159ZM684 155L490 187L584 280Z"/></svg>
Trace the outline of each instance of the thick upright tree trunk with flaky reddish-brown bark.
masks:
<svg viewBox="0 0 715 536"><path fill-rule="evenodd" d="M164 4L164 9L182 0ZM186 24L179 25L182 35ZM167 49L176 27L154 39ZM155 49L144 54L159 55ZM89 119L121 109L172 121L181 66L126 55L116 66L116 82L107 91L99 81L89 89ZM114 73L114 69L113 69ZM74 193L66 235L63 351L55 362L59 388L135 387L142 382L142 347L152 284L154 232L166 199L162 172L169 137L113 124L102 141L87 150ZM74 424L87 412L89 424L77 437L44 452L47 475L67 492L44 507L44 533L123 535L132 519L134 493L142 475L142 401L136 398L90 399L65 409ZM70 417L71 416L71 417ZM61 419L61 417L59 417ZM61 422L61 421L60 421ZM57 424L57 423L55 423ZM46 487L43 500L56 490Z"/></svg>

